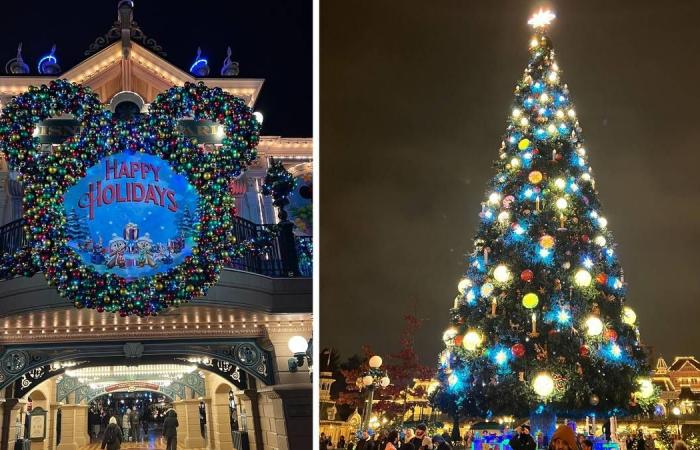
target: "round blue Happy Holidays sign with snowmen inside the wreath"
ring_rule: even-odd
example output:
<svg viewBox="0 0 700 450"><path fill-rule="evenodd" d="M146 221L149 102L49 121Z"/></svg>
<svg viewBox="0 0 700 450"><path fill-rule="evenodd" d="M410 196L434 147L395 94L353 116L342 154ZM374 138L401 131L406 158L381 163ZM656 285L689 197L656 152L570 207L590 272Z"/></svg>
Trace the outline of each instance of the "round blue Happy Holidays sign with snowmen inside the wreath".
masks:
<svg viewBox="0 0 700 450"><path fill-rule="evenodd" d="M199 196L157 156L102 159L65 194L68 245L100 273L126 279L167 272L192 253Z"/></svg>

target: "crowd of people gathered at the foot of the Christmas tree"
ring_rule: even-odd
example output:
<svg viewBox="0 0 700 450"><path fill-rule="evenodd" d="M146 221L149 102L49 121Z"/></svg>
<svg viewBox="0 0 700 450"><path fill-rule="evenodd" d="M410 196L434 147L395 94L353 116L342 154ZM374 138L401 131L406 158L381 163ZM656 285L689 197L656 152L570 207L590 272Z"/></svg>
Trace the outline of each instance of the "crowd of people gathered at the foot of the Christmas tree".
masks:
<svg viewBox="0 0 700 450"><path fill-rule="evenodd" d="M452 450L455 447L471 449L473 440L474 433L471 431L459 441L452 440L447 432L431 437L426 425L420 424L415 433L410 428L373 434L365 430L356 439L351 438L349 441L346 441L345 436L340 436L337 442L333 442L330 436L321 433L320 450ZM660 448L653 436L645 437L641 430L621 440L621 450ZM509 446L512 450L537 450L540 447L530 434L530 426L527 424L521 425L510 438ZM593 450L593 442L583 434L577 435L568 425L561 425L552 435L547 450ZM688 446L684 441L677 439L673 450L688 450Z"/></svg>

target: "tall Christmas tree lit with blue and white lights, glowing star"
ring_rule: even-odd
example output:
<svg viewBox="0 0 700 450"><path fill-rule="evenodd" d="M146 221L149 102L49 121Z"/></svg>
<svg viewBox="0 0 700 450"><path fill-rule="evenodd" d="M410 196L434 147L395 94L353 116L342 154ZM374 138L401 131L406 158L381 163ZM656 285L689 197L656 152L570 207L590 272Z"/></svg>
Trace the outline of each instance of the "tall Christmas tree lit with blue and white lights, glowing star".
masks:
<svg viewBox="0 0 700 450"><path fill-rule="evenodd" d="M552 18L529 22L530 60L443 335L433 401L453 417L601 417L654 402Z"/></svg>

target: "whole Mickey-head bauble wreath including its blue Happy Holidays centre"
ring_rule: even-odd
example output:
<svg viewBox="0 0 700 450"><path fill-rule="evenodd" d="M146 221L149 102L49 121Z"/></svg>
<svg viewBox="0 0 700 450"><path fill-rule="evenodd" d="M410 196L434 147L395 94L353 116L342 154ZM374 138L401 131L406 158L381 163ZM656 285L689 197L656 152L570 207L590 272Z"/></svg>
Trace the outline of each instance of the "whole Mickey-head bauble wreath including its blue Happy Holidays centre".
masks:
<svg viewBox="0 0 700 450"><path fill-rule="evenodd" d="M80 131L41 151L34 128L64 114ZM185 117L222 125L222 145L207 150L184 136L177 123ZM0 277L41 271L77 308L122 316L205 295L224 265L258 244L235 242L227 185L255 159L259 130L243 100L202 83L169 89L129 121L113 118L88 87L57 80L30 88L0 117L0 150L24 185L28 241L3 255Z"/></svg>

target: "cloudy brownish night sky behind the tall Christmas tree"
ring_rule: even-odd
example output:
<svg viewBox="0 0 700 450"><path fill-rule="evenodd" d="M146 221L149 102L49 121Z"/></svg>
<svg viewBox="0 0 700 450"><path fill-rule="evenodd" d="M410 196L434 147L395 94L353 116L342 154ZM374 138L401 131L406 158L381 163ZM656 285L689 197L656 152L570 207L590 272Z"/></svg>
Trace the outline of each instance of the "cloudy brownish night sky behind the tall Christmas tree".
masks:
<svg viewBox="0 0 700 450"><path fill-rule="evenodd" d="M550 2L550 35L655 354L700 356L700 2ZM433 364L539 3L321 6L321 346Z"/></svg>

